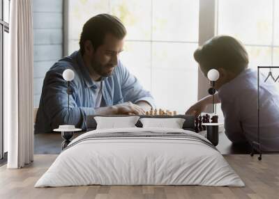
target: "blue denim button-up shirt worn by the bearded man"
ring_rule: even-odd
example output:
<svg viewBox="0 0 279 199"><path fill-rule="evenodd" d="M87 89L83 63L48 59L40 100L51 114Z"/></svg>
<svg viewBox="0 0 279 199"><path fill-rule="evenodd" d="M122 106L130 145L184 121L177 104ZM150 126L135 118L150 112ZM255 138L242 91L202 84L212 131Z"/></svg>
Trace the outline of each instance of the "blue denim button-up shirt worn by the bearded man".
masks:
<svg viewBox="0 0 279 199"><path fill-rule="evenodd" d="M75 72L75 78L70 81L69 113L67 82L62 77L66 69ZM151 94L142 88L137 78L130 74L120 61L112 75L103 78L102 83L103 106L146 101L155 107ZM45 75L35 132L51 132L59 125L65 124L86 129L86 116L95 113L96 102L93 95L96 95L94 92L96 88L96 83L89 76L89 70L84 65L80 51L61 58Z"/></svg>

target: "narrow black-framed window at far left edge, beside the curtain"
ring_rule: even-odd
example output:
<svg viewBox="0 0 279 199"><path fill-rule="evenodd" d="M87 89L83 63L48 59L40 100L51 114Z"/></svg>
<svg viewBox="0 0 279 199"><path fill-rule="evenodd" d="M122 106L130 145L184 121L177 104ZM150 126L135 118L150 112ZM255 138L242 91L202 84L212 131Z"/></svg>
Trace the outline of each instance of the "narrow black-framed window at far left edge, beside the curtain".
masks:
<svg viewBox="0 0 279 199"><path fill-rule="evenodd" d="M8 64L8 32L10 0L0 1L0 159L7 149L7 135L3 132L3 68Z"/></svg>

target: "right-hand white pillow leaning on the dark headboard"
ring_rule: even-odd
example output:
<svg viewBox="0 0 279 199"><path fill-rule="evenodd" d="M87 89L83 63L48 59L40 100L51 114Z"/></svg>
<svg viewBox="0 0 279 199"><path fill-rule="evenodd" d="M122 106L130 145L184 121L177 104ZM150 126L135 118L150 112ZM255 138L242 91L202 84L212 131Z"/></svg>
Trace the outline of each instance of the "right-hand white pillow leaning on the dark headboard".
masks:
<svg viewBox="0 0 279 199"><path fill-rule="evenodd" d="M163 127L182 129L185 119L183 118L140 118L142 127Z"/></svg>

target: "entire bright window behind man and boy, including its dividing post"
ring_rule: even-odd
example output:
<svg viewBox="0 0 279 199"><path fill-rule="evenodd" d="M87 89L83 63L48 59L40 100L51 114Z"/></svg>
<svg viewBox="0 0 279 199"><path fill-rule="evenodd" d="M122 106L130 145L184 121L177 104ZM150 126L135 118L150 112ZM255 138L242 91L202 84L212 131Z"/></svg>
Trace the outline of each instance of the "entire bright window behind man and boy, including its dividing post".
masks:
<svg viewBox="0 0 279 199"><path fill-rule="evenodd" d="M66 5L65 55L79 49L87 19L116 15L128 30L121 61L151 90L158 108L184 113L197 97L208 95L208 81L199 74L193 51L214 35L241 40L250 67L279 65L276 0L71 0Z"/></svg>

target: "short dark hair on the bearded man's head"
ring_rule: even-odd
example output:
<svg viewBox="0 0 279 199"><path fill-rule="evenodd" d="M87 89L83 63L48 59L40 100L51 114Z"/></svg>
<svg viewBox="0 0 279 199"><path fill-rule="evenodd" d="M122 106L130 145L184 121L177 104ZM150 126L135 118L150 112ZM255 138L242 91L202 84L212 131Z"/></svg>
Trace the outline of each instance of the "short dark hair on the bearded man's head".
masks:
<svg viewBox="0 0 279 199"><path fill-rule="evenodd" d="M100 14L91 17L83 26L80 36L80 51L84 54L84 42L90 40L94 50L103 45L105 35L111 33L120 40L126 35L126 28L120 19L109 14Z"/></svg>

